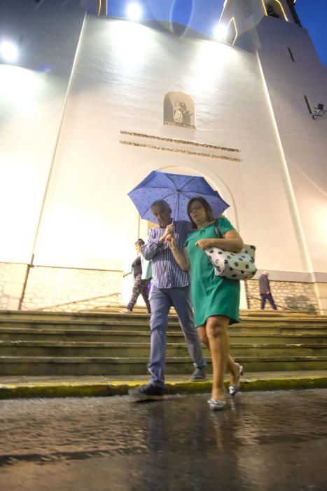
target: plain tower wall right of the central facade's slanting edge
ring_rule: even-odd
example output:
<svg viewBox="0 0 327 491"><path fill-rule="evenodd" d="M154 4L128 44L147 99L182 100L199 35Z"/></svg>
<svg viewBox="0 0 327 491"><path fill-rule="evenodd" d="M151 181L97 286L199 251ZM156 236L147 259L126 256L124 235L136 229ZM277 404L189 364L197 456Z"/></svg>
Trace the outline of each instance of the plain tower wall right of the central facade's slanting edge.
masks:
<svg viewBox="0 0 327 491"><path fill-rule="evenodd" d="M258 55L295 194L308 262L312 271L326 273L327 118L314 121L304 98L306 95L312 109L318 102L326 105L326 70L305 29L265 18L258 35L262 45Z"/></svg>

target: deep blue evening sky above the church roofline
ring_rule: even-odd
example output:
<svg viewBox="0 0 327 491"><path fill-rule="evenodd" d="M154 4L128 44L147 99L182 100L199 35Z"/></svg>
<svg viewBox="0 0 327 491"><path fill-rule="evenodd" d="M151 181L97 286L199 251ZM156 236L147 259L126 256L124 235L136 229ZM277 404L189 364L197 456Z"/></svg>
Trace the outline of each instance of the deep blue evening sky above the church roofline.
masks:
<svg viewBox="0 0 327 491"><path fill-rule="evenodd" d="M127 4L139 3L144 18L171 20L212 34L223 9L223 0L109 0L109 15L125 17ZM94 1L90 0L89 5ZM327 0L297 0L296 11L311 36L323 65L327 65Z"/></svg>

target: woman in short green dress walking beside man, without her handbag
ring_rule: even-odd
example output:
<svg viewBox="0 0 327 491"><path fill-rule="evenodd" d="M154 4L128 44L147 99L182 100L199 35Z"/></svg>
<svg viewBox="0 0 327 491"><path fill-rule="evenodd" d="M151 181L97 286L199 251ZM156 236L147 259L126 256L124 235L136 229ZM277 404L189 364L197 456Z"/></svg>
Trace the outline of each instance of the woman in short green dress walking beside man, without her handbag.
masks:
<svg viewBox="0 0 327 491"><path fill-rule="evenodd" d="M243 368L229 354L228 325L239 322L239 281L220 278L214 274L204 250L219 247L232 252L243 248L242 238L225 217L218 218L222 238L215 231L216 221L209 203L196 197L188 203L188 216L195 227L181 252L174 236L167 242L182 269L190 270L190 288L195 314L195 325L201 341L209 348L212 358L212 394L208 401L213 410L223 409L225 394L223 377L230 372L228 391L234 396L239 389Z"/></svg>

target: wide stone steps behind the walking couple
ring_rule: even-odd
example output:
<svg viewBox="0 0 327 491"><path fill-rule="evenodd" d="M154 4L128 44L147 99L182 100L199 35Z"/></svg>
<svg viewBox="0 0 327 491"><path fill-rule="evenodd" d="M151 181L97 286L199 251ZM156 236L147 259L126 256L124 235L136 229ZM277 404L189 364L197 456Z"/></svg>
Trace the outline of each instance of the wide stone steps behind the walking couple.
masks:
<svg viewBox="0 0 327 491"><path fill-rule="evenodd" d="M118 314L0 312L2 375L146 375L150 351L145 309ZM230 348L246 371L327 369L327 316L242 311ZM207 349L204 354L210 360ZM209 363L209 371L211 365ZM193 365L174 315L167 331L167 374Z"/></svg>

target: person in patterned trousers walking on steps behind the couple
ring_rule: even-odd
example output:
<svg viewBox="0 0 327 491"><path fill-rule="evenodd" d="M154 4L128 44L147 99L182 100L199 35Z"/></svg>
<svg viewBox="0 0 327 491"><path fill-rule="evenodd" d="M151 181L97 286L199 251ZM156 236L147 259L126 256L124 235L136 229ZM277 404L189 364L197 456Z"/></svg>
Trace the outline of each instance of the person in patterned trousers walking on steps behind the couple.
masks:
<svg viewBox="0 0 327 491"><path fill-rule="evenodd" d="M134 284L130 302L128 302L126 309L120 310L120 314L132 314L133 307L136 304L139 295L142 295L148 313L151 314L150 302L148 301L148 283L150 283L152 276L151 262L146 261L144 257L141 256L141 246L144 244L145 242L141 238L135 242L137 258L132 262L132 271L123 275L125 278L125 276L132 273L134 276Z"/></svg>

